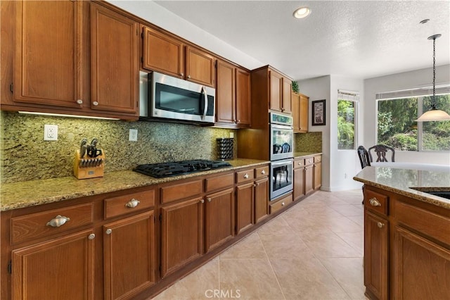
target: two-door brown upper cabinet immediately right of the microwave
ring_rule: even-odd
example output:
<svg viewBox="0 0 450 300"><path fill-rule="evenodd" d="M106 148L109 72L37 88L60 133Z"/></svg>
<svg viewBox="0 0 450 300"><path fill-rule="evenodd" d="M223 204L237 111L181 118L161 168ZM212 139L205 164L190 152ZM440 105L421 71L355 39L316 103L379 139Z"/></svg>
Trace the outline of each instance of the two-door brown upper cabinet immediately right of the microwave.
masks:
<svg viewBox="0 0 450 300"><path fill-rule="evenodd" d="M216 77L216 125L250 127L250 73L218 60Z"/></svg>

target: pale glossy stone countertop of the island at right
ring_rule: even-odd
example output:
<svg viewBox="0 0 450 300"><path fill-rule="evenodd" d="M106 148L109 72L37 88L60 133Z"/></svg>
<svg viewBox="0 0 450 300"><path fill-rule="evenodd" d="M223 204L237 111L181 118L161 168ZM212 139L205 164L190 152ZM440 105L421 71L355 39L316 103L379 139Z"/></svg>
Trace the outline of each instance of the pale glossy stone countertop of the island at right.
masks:
<svg viewBox="0 0 450 300"><path fill-rule="evenodd" d="M450 172L368 166L353 177L373 187L450 209L450 199L427 192L450 192ZM420 189L420 192L419 190Z"/></svg>

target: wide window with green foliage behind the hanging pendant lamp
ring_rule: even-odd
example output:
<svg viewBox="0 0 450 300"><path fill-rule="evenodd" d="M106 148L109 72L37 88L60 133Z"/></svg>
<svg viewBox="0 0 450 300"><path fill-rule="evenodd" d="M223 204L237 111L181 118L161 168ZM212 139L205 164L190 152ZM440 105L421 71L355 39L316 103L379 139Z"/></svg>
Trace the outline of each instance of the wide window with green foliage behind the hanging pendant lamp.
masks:
<svg viewBox="0 0 450 300"><path fill-rule="evenodd" d="M416 122L430 109L432 96L378 100L377 144L403 151L449 151L450 121ZM438 109L450 113L450 94L436 96Z"/></svg>

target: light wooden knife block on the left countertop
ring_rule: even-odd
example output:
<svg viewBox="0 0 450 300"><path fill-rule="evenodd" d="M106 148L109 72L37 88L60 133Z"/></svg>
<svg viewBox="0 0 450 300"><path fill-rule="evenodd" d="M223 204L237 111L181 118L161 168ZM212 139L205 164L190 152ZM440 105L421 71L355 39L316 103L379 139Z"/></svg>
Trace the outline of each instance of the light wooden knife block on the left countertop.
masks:
<svg viewBox="0 0 450 300"><path fill-rule="evenodd" d="M80 157L79 150L75 152L73 161L73 174L78 179L103 177L103 169L105 168L105 152L101 149L101 155L92 158L85 156Z"/></svg>

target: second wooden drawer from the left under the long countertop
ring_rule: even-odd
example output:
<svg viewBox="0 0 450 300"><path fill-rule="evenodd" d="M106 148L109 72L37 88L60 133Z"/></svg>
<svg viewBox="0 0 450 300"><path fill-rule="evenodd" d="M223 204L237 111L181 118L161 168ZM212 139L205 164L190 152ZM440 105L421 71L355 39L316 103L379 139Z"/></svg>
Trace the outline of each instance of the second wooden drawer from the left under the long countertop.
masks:
<svg viewBox="0 0 450 300"><path fill-rule="evenodd" d="M105 199L105 219L155 206L155 189Z"/></svg>

